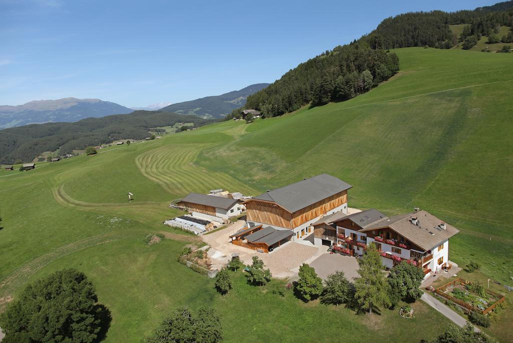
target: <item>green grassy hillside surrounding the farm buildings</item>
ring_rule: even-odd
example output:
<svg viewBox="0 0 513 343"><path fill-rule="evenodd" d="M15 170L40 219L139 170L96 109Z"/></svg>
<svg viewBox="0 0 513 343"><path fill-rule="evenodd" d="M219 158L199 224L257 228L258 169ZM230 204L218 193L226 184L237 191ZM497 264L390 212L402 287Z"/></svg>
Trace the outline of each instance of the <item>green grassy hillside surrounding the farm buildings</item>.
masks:
<svg viewBox="0 0 513 343"><path fill-rule="evenodd" d="M322 341L333 334L418 341L443 331L445 319L421 302L417 318L399 325L393 311L357 316L304 304L289 293L248 287L241 275L223 299L212 280L176 262L191 236L170 232L173 239L143 242L145 234L166 230L161 222L177 214L167 204L188 192L256 195L329 173L353 185L352 207L393 215L420 206L457 226L450 259L478 260L485 275L513 283L513 56L394 51L399 74L347 102L0 172L0 309L26 282L74 267L90 276L112 311L107 341L140 341L182 304L216 308L227 341ZM501 341L513 340L500 329L506 315L487 330Z"/></svg>

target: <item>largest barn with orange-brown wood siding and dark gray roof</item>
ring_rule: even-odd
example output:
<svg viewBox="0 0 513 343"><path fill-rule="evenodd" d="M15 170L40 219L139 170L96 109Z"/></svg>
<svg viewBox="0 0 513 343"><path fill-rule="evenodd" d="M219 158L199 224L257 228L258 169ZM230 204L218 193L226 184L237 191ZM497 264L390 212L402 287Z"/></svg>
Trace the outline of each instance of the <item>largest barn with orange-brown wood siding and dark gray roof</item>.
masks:
<svg viewBox="0 0 513 343"><path fill-rule="evenodd" d="M248 227L270 226L292 233L300 240L312 233L311 225L322 216L347 213L347 190L352 186L322 174L288 186L268 190L246 200Z"/></svg>

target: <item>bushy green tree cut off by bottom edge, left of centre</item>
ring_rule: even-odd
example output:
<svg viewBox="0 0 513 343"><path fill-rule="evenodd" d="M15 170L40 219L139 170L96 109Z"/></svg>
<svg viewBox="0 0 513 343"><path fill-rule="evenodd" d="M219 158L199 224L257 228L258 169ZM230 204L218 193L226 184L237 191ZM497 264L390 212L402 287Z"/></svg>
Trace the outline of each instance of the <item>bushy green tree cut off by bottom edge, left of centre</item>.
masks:
<svg viewBox="0 0 513 343"><path fill-rule="evenodd" d="M215 343L223 339L221 322L212 309L200 309L194 317L187 308L167 316L146 341L148 343Z"/></svg>

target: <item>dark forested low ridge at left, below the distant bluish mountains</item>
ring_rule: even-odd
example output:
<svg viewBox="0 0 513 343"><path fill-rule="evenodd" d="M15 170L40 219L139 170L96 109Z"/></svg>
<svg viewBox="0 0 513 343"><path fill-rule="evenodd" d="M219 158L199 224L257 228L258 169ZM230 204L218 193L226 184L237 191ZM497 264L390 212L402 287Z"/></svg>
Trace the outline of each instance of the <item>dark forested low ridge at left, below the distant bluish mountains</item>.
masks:
<svg viewBox="0 0 513 343"><path fill-rule="evenodd" d="M46 123L0 130L0 163L33 160L44 151L59 149L61 155L90 145L119 139L144 139L152 127L194 123L201 126L212 120L162 111L135 111L128 115L87 118L74 123Z"/></svg>

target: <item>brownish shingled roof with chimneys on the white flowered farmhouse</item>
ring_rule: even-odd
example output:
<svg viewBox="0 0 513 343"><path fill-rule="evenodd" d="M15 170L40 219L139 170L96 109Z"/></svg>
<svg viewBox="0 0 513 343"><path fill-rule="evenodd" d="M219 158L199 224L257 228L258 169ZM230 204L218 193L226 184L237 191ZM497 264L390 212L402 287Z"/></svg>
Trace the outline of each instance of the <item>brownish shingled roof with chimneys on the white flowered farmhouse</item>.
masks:
<svg viewBox="0 0 513 343"><path fill-rule="evenodd" d="M411 217L417 217L419 224L413 224ZM365 230L361 231L368 232L388 226L407 240L427 251L460 232L456 227L449 224L446 224L444 230L440 227L442 222L442 220L432 214L420 211L418 213L409 213L383 219L367 226Z"/></svg>

